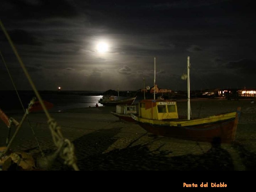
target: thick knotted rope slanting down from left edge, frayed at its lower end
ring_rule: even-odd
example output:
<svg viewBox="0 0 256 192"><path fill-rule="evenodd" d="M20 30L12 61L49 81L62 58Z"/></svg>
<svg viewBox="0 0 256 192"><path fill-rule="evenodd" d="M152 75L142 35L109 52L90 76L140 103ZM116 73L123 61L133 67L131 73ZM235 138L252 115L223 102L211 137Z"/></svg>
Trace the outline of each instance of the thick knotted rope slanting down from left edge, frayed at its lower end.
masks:
<svg viewBox="0 0 256 192"><path fill-rule="evenodd" d="M60 133L60 127L57 126L57 123L55 122L54 119L52 119L52 117L50 116L49 112L47 111L47 108L46 108L46 106L44 105L43 100L42 100L41 96L39 95L39 92L37 91L36 86L34 85L34 82L32 81L30 75L28 74L28 71L27 71L25 65L23 64L23 62L22 62L22 60L21 60L21 58L20 58L20 55L18 54L18 52L17 52L17 50L16 50L16 48L15 48L15 46L14 46L14 43L12 42L12 40L11 40L9 34L8 34L7 31L5 30L5 27L4 27L4 25L2 24L2 21L1 21L1 20L0 20L0 26L1 26L1 28L2 28L2 31L3 31L4 34L5 34L6 38L8 39L8 42L10 43L10 45L11 45L11 47L12 47L12 49L13 49L13 51L14 51L14 53L15 53L17 59L18 59L18 62L20 63L20 66L21 66L21 68L23 69L23 72L25 73L25 75L26 75L26 77L27 77L27 79L28 79L28 81L29 81L29 83L30 83L30 85L31 85L31 87L32 87L32 89L33 89L33 91L34 91L34 93L36 94L36 97L38 98L38 101L40 102L40 104L41 104L41 106L42 106L42 108L43 108L44 113L46 114L46 117L47 117L48 122L49 122L49 129L50 129L50 131L51 131L51 133L52 133L52 137L53 137L54 144L57 146L57 148L61 148L61 147L62 147L62 145L61 145L62 142L60 142L60 141L63 141L64 138L63 138L62 134ZM65 146L65 148L69 148L69 149L63 149L63 150L66 150L66 151L73 151L74 146L73 146L73 145L68 145L68 146ZM71 155L71 153L68 153L68 162L69 162L69 163L72 163L72 166L73 166L73 168L74 168L75 170L79 170L78 167L77 167L77 165L76 165L76 163L75 163L75 158L74 158L75 155L73 155L73 156L72 156L72 155L69 156L69 155ZM65 157L65 158L66 158L67 156L62 156L62 157ZM71 158L73 158L73 160L72 160L72 161L69 161ZM64 160L65 160L65 162L67 161L67 159L64 159Z"/></svg>

